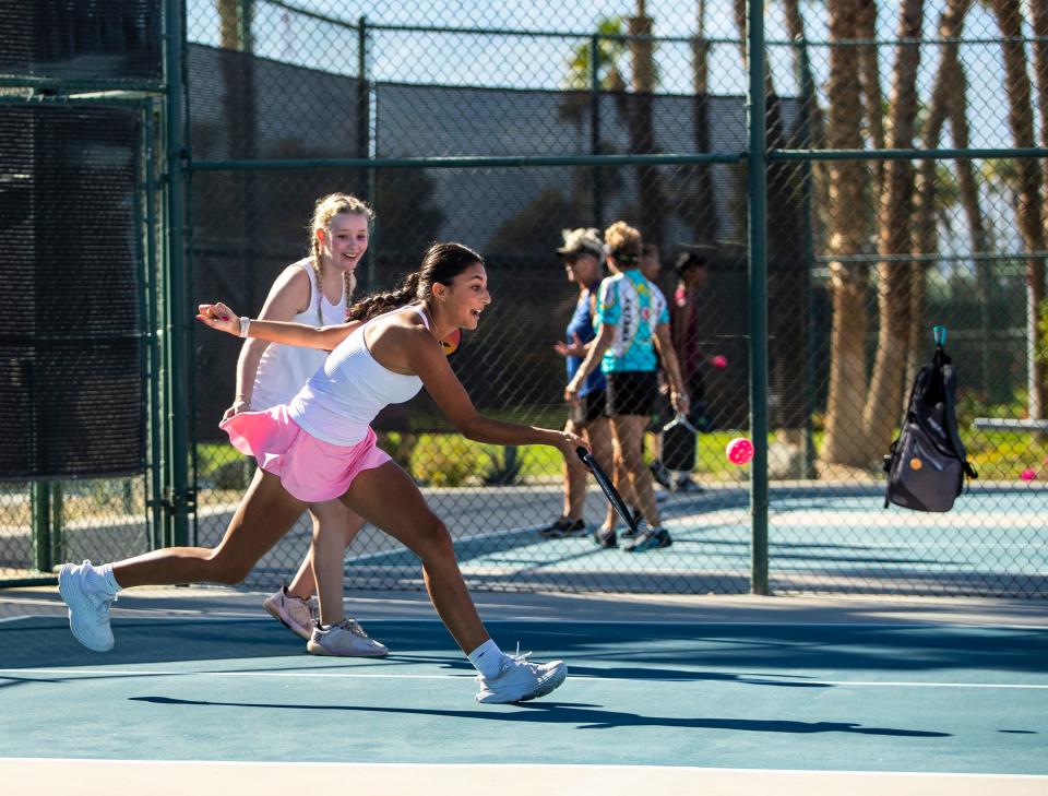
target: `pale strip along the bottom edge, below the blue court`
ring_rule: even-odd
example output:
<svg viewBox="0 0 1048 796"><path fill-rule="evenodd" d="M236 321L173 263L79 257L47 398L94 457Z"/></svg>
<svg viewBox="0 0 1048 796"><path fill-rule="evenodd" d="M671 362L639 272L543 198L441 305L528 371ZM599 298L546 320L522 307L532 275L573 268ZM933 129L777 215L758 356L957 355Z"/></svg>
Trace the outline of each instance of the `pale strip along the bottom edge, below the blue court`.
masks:
<svg viewBox="0 0 1048 796"><path fill-rule="evenodd" d="M14 793L68 796L70 783L104 781L110 796L184 796L188 793L286 796L324 793L352 782L364 793L461 796L498 792L635 796L776 796L848 793L850 796L1044 796L1048 777L954 772L798 771L712 769L690 765L580 765L491 763L345 763L249 761L143 761L0 758L0 776Z"/></svg>

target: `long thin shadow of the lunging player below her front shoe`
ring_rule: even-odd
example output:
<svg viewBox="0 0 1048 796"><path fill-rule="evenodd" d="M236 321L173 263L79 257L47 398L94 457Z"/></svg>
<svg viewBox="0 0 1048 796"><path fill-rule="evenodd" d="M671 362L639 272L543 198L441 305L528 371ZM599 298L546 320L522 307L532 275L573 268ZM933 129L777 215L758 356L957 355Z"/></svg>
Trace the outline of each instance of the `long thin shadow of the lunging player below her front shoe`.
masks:
<svg viewBox="0 0 1048 796"><path fill-rule="evenodd" d="M750 718L679 718L676 716L646 716L624 711L604 710L598 705L571 702L545 701L534 705L510 705L513 713L474 710L431 710L426 708L366 708L360 705L333 704L279 704L275 702L213 702L207 700L176 699L172 697L129 697L132 702L151 704L249 708L263 710L300 710L320 712L380 713L407 716L438 716L444 718L480 718L495 722L524 722L548 724L574 724L576 729L610 729L617 727L670 727L680 729L730 729L753 733L856 733L859 735L889 735L906 738L945 738L950 733L925 729L898 729L894 727L865 727L850 722L791 722Z"/></svg>

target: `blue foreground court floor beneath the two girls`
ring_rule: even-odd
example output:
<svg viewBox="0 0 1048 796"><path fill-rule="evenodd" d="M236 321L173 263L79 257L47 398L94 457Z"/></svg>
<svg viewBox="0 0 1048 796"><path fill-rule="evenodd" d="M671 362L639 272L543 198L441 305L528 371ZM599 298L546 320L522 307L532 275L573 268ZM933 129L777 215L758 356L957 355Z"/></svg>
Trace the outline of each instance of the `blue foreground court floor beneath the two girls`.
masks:
<svg viewBox="0 0 1048 796"><path fill-rule="evenodd" d="M1048 794L1044 601L478 593L567 682L476 703L415 593L347 607L388 658L313 657L262 594L129 590L116 649L0 592L4 794Z"/></svg>

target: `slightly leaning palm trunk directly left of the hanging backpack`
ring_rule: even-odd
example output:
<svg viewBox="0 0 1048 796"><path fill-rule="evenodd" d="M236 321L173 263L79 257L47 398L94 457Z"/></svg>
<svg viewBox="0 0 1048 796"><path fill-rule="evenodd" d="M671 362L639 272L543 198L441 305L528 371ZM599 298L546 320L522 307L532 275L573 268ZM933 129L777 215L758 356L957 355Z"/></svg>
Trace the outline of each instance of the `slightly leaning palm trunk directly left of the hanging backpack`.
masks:
<svg viewBox="0 0 1048 796"><path fill-rule="evenodd" d="M924 11L924 0L903 1L898 21L901 39L920 38ZM920 48L905 44L896 48L889 119L892 148L914 145L919 66ZM914 164L910 161L889 161L884 169L883 195L878 214L878 252L889 257L906 254L909 252L914 209ZM898 419L896 412L903 395L913 272L909 263L888 259L882 260L877 270L880 326L862 425L874 445L883 443L886 447Z"/></svg>

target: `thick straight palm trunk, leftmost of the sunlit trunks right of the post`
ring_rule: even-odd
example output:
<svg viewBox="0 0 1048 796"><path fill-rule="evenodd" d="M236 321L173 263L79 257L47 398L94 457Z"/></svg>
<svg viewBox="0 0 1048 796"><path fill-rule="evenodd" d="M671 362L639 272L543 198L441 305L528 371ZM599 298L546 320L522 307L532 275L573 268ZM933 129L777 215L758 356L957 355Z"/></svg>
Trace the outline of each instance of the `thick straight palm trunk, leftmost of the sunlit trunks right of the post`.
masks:
<svg viewBox="0 0 1048 796"><path fill-rule="evenodd" d="M827 0L830 38L846 41L856 36L856 11L861 0ZM855 47L831 46L826 84L830 110L826 143L833 148L862 146L859 60ZM866 306L869 269L847 258L862 250L866 230L856 223L855 211L862 206L866 168L858 161L832 161L827 212L830 292L833 326L830 333L830 395L826 403L826 436L820 459L827 463L866 466L869 447L862 433L862 404L866 400Z"/></svg>

